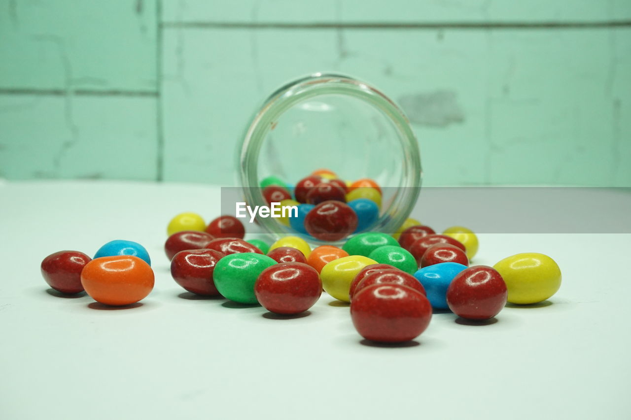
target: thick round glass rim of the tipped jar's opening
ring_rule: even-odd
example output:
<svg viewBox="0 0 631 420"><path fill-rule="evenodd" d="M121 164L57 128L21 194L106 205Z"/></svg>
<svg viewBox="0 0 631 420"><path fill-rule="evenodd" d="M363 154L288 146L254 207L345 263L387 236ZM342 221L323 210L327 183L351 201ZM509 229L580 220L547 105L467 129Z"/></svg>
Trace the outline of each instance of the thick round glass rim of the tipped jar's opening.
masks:
<svg viewBox="0 0 631 420"><path fill-rule="evenodd" d="M274 127L274 122L293 105L315 96L330 95L331 93L363 100L384 114L396 129L399 143L405 151L404 159L401 162L403 165L403 185L398 185L398 191L386 211L382 211L377 223L371 228L371 230L394 233L408 218L418 199L422 178L418 141L410 127L410 120L396 103L369 83L344 74L313 73L295 79L275 90L264 101L252 118L240 148L240 182L244 187L245 201L254 206L267 205L261 189L255 187L259 187L259 153L264 139ZM257 218L257 221L274 238L291 234L302 236L307 242L318 245L334 245L333 242L319 241L311 236L290 233L285 230L285 226L271 218ZM355 234L349 235L345 240L353 235Z"/></svg>

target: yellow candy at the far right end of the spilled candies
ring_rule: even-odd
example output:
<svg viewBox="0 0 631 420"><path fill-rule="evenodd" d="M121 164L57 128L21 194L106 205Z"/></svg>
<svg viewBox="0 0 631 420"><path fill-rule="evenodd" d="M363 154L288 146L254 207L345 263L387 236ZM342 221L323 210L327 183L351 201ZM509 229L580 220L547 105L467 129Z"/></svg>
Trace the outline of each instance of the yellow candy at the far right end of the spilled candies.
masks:
<svg viewBox="0 0 631 420"><path fill-rule="evenodd" d="M527 252L493 265L504 279L508 301L528 305L550 298L561 287L561 270L548 255Z"/></svg>

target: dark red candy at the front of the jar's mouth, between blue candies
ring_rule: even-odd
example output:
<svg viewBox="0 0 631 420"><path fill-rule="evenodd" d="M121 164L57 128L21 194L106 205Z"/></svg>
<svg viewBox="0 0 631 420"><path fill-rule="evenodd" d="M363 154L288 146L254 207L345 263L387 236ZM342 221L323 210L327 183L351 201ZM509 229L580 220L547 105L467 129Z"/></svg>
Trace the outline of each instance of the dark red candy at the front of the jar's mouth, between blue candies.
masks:
<svg viewBox="0 0 631 420"><path fill-rule="evenodd" d="M340 201L324 201L305 217L309 235L322 241L339 241L357 228L357 214Z"/></svg>

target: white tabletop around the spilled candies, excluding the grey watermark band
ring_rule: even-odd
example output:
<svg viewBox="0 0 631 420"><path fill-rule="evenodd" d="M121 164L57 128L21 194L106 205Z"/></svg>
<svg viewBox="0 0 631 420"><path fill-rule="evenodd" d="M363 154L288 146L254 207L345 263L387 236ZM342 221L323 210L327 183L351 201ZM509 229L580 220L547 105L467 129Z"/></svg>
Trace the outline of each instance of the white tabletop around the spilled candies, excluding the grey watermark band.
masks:
<svg viewBox="0 0 631 420"><path fill-rule="evenodd" d="M279 320L184 293L163 253L166 225L219 208L204 185L0 184L0 418L631 418L628 233L481 233L474 264L518 252L558 262L550 304L507 307L481 326L435 313L418 345L379 347L328 295ZM114 239L151 254L156 284L142 305L49 293L46 255L91 256Z"/></svg>

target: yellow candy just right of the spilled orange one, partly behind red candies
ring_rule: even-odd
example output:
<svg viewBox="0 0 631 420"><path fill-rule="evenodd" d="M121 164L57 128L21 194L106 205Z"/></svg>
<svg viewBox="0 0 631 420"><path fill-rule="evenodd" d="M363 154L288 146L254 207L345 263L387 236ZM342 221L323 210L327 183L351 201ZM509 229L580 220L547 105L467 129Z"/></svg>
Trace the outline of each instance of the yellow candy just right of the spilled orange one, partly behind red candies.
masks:
<svg viewBox="0 0 631 420"><path fill-rule="evenodd" d="M324 291L338 300L350 302L348 291L353 279L370 264L377 264L377 261L362 255L349 255L329 262L320 272Z"/></svg>

